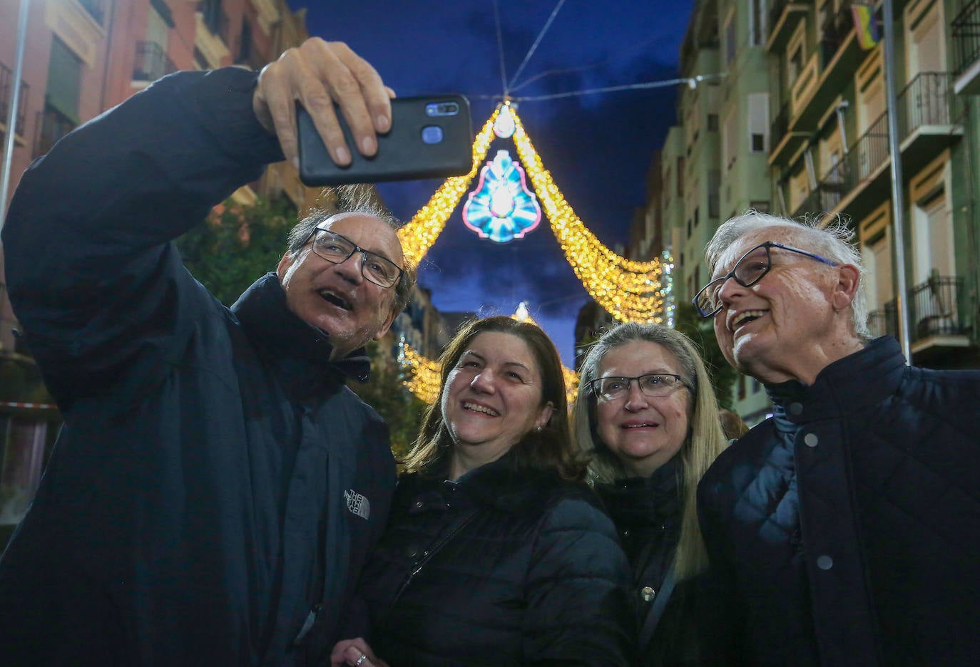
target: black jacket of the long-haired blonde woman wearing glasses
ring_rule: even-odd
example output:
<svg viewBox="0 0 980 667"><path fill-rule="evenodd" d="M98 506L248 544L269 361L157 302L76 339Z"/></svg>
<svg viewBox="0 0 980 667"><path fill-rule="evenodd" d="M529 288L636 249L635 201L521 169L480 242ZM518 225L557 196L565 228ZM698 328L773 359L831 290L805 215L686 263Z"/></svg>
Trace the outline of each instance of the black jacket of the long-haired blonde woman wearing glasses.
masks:
<svg viewBox="0 0 980 667"><path fill-rule="evenodd" d="M596 484L596 492L613 518L633 570L633 601L637 626L646 622L673 564L680 538L683 484L678 456L646 478ZM667 602L657 631L641 646L640 664L658 667L701 665L708 657L699 637L702 604L701 576L678 582Z"/></svg>

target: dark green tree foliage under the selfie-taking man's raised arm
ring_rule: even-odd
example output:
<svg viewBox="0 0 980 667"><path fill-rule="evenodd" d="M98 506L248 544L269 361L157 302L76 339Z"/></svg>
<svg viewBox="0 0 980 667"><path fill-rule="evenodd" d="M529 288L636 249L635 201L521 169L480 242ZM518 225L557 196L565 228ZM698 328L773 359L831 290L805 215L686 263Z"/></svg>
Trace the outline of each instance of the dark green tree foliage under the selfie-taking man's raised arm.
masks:
<svg viewBox="0 0 980 667"><path fill-rule="evenodd" d="M194 277L230 306L275 269L294 224L296 207L286 197L260 197L253 206L229 199L204 224L177 239L177 248Z"/></svg>

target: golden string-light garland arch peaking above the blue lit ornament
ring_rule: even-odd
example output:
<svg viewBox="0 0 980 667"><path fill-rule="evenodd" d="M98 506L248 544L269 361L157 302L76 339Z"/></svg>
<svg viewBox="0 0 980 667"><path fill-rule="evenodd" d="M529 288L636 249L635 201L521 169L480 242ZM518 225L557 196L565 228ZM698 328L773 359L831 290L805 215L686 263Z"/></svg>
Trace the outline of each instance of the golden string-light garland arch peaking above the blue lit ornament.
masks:
<svg viewBox="0 0 980 667"><path fill-rule="evenodd" d="M495 138L494 126L502 113L515 125L512 136L517 158L531 180L537 200L548 217L552 231L562 246L565 259L596 303L619 321L663 322L669 296L669 282L662 281L663 263L633 262L620 257L596 238L568 206L562 191L552 179L530 137L509 102L500 105L483 123L473 141L473 163L465 176L453 176L439 188L415 217L399 230L408 262L417 264L435 243L453 214L469 184L486 160ZM503 124L503 122L502 122Z"/></svg>

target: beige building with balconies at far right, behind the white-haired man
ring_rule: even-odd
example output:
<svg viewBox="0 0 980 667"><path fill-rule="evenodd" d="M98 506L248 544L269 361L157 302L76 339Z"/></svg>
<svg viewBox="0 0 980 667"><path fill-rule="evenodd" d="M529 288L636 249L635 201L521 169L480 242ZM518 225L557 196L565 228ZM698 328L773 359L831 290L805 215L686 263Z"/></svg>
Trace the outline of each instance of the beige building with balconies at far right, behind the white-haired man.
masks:
<svg viewBox="0 0 980 667"><path fill-rule="evenodd" d="M882 21L880 3L874 20ZM857 232L872 334L898 334L896 287L905 271L912 361L980 362L977 315L980 10L976 2L894 3L897 104L886 102L884 47L858 43L850 0L772 2L770 70L774 209L790 217L844 215ZM879 33L883 34L883 29ZM894 262L893 156L897 115L904 175L906 263Z"/></svg>

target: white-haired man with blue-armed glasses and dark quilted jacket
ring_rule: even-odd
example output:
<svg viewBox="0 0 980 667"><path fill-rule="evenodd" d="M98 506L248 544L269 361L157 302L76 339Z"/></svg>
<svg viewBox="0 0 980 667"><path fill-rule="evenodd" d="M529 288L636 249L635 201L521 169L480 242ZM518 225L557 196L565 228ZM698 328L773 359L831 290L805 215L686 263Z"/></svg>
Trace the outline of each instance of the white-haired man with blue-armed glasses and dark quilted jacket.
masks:
<svg viewBox="0 0 980 667"><path fill-rule="evenodd" d="M698 488L724 664L980 655L980 373L872 340L852 237L750 213L708 245L694 304L773 403Z"/></svg>

